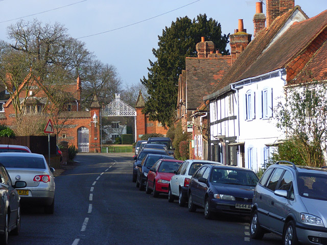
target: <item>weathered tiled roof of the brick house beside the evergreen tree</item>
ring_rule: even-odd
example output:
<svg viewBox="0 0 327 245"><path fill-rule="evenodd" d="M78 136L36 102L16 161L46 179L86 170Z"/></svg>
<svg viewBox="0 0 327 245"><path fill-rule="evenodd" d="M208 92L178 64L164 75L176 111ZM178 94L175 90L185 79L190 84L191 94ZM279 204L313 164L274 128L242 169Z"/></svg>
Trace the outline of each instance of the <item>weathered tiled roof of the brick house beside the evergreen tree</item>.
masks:
<svg viewBox="0 0 327 245"><path fill-rule="evenodd" d="M231 66L230 56L219 58L186 58L186 106L196 109L219 84Z"/></svg>

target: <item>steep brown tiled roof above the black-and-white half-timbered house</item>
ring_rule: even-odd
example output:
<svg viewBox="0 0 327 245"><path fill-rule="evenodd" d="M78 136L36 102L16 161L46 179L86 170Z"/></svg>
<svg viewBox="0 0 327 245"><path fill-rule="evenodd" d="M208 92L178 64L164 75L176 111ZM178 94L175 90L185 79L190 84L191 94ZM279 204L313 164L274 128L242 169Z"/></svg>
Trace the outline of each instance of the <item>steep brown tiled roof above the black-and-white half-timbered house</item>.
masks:
<svg viewBox="0 0 327 245"><path fill-rule="evenodd" d="M262 29L255 38L247 45L245 50L241 53L238 59L233 63L221 82L215 87L213 92L216 92L228 84L238 82L244 78L254 77L254 74L260 74L262 70L250 70L252 65L261 57L263 51L268 47L271 41L276 37L279 31L285 26L290 17L299 11L303 16L308 16L301 10L299 6L289 10L282 16L277 17L269 28ZM277 39L278 40L278 39ZM269 48L270 49L270 48ZM265 52L266 53L266 52ZM265 64L263 64L265 65ZM265 70L272 70L272 67L264 67ZM246 75L245 75L246 74ZM262 73L264 74L264 73Z"/></svg>

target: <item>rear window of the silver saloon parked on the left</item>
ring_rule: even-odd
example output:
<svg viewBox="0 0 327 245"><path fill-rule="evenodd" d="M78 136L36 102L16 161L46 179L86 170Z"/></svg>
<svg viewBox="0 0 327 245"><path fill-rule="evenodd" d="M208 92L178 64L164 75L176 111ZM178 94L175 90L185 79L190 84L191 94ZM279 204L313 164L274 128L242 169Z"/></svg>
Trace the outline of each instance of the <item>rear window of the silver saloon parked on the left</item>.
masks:
<svg viewBox="0 0 327 245"><path fill-rule="evenodd" d="M0 157L0 163L6 168L40 168L45 169L45 164L42 158L39 157L19 157L6 156Z"/></svg>

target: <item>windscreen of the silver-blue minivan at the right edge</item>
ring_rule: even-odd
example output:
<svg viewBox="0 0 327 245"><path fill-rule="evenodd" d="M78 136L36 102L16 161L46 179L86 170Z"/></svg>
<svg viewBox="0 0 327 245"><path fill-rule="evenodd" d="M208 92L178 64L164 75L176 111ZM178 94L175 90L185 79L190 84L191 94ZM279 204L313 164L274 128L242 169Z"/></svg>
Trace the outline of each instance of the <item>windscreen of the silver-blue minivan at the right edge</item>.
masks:
<svg viewBox="0 0 327 245"><path fill-rule="evenodd" d="M298 174L299 194L305 198L327 200L327 175L313 173Z"/></svg>

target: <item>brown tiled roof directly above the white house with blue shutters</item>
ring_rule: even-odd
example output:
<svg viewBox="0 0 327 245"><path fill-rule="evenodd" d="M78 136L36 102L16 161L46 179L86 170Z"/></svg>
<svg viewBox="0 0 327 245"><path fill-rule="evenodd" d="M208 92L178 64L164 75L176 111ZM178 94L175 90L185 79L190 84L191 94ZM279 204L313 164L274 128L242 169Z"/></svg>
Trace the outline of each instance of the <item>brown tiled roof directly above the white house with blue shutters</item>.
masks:
<svg viewBox="0 0 327 245"><path fill-rule="evenodd" d="M286 68L286 65L326 27L326 23L327 11L313 18L294 23L261 57L253 62L239 80Z"/></svg>

